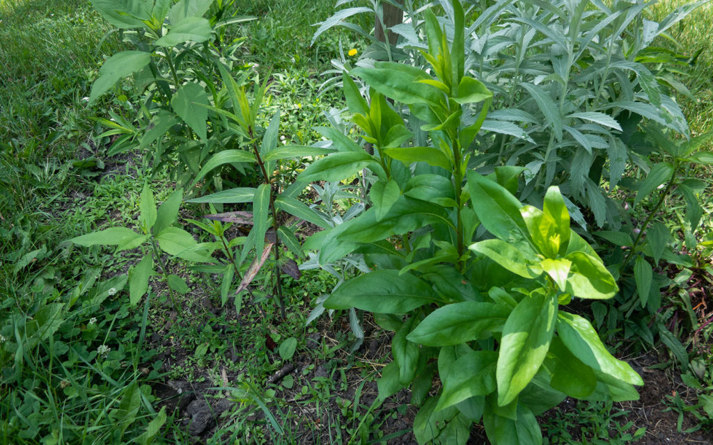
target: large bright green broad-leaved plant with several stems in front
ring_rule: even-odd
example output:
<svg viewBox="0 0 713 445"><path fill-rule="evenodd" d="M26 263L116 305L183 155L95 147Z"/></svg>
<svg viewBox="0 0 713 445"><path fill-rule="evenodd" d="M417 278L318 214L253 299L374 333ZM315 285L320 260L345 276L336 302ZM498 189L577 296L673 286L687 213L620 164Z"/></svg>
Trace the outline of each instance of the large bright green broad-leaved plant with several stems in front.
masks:
<svg viewBox="0 0 713 445"><path fill-rule="evenodd" d="M358 252L374 269L339 286L324 307L371 311L394 330L379 397L411 385L419 443L464 444L482 419L494 444L541 444L535 415L565 395L636 399L632 385L642 379L588 320L561 309L572 298L612 298L617 285L570 229L559 190L548 189L543 209L523 206L508 191L523 169L498 167L488 179L468 168L493 95L466 75L464 11L451 6L451 41L424 14L421 54L433 75L389 62L355 68L370 103L343 76L352 121L374 155L322 130L337 152L299 177L332 181L366 168L378 178L370 209L319 234L320 262ZM387 98L408 105L424 145L404 146L414 134ZM436 372L443 387L429 397Z"/></svg>

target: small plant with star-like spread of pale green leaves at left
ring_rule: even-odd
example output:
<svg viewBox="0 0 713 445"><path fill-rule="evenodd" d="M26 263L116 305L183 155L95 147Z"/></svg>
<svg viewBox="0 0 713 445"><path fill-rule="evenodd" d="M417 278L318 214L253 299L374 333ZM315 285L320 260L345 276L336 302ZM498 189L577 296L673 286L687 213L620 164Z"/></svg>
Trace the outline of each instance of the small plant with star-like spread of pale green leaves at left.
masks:
<svg viewBox="0 0 713 445"><path fill-rule="evenodd" d="M210 254L217 248L212 244L198 244L187 231L173 226L182 201L183 189L177 189L157 209L153 192L146 184L139 203L140 232L127 227L110 227L69 241L84 247L116 246L116 251L140 248L143 256L129 272L129 304L136 305L148 291L149 279L155 274L155 264L158 263L160 273L168 283L173 307L177 313L182 313L174 292L186 293L188 285L183 278L169 273L161 252L186 261L206 263L212 261Z"/></svg>

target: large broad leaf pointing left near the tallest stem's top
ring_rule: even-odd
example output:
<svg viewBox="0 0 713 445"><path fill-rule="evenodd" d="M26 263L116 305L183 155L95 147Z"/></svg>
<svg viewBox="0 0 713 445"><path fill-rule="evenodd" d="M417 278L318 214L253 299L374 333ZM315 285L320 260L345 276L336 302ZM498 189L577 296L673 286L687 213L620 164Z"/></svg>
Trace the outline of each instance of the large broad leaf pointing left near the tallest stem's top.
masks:
<svg viewBox="0 0 713 445"><path fill-rule="evenodd" d="M376 62L374 68L354 68L352 75L359 76L387 98L406 105L425 103L438 106L443 93L434 86L417 82L431 78L424 70L393 62Z"/></svg>

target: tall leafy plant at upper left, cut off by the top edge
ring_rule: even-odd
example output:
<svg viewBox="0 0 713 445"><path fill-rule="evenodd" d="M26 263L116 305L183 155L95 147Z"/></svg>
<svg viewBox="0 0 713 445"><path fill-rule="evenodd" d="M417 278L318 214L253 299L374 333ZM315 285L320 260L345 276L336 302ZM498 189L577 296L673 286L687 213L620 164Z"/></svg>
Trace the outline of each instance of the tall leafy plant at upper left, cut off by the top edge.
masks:
<svg viewBox="0 0 713 445"><path fill-rule="evenodd" d="M130 30L124 33L138 47L108 58L92 85L89 103L119 80L133 75L133 88L140 96L140 105L129 106L128 117L110 112L111 120L99 119L109 127L99 137L119 136L109 155L153 146L153 153L147 156L153 156L154 171L172 162L178 153L184 168L173 169L175 177L180 182L190 182L205 157L220 151L223 145L235 143L225 138L223 122L215 115L209 116L208 109L202 106L225 101L225 91L217 80L220 69L225 70L224 63L232 67L234 62L232 58L225 59L225 55L235 52L235 48L220 51L212 44L213 37L218 33L220 42L224 34L218 31L224 26L251 19L230 16L227 9L232 2L224 1L214 4L213 0L181 0L173 4L170 0L94 0L92 4L111 25ZM204 15L209 12L212 16L207 19ZM123 101L128 99L123 96ZM167 133L170 142L164 143Z"/></svg>

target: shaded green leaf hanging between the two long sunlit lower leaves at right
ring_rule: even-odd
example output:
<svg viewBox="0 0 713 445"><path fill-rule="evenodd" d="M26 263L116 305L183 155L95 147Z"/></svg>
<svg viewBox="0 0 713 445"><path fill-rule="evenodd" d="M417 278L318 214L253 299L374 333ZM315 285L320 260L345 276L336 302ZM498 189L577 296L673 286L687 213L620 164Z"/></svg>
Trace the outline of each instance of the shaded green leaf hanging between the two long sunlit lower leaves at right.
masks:
<svg viewBox="0 0 713 445"><path fill-rule="evenodd" d="M548 358L553 361L550 385L570 397L587 397L597 386L597 376L592 368L585 365L556 336L550 343Z"/></svg>

